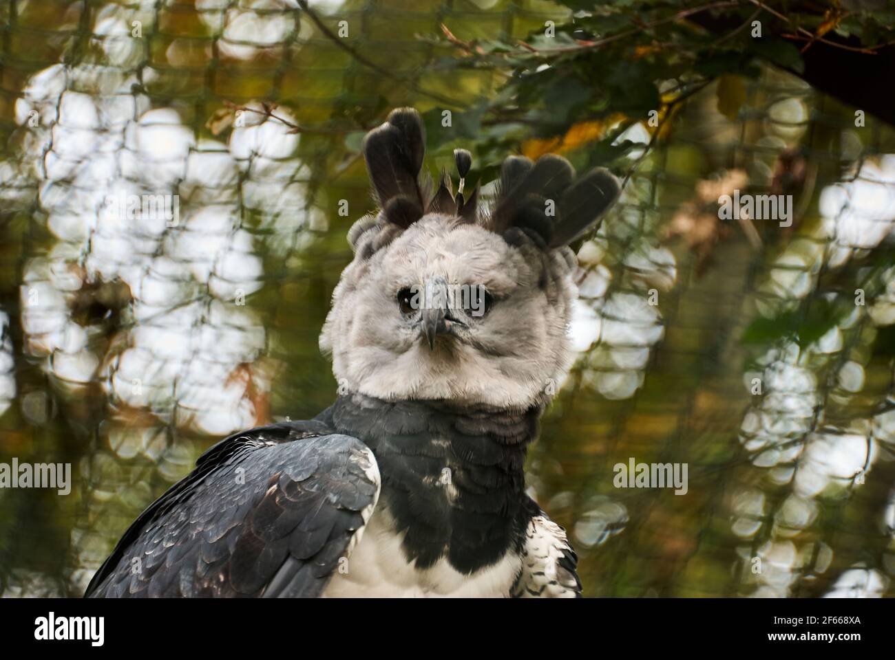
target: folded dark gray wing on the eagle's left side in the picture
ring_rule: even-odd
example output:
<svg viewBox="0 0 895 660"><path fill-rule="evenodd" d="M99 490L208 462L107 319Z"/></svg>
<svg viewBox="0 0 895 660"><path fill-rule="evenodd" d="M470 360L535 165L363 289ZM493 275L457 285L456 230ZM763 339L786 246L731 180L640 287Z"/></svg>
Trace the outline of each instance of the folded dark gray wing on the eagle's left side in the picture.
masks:
<svg viewBox="0 0 895 660"><path fill-rule="evenodd" d="M141 514L85 596L319 596L378 497L357 438L317 421L251 429Z"/></svg>

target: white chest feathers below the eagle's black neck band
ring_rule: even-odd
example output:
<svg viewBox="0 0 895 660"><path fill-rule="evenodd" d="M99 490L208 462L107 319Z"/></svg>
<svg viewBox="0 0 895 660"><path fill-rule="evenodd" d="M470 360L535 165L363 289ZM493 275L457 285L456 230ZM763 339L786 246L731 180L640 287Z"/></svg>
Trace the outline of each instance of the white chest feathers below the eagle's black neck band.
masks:
<svg viewBox="0 0 895 660"><path fill-rule="evenodd" d="M333 574L323 597L508 597L522 560L504 559L471 575L457 572L447 560L418 571L407 563L401 536L384 508L373 512L351 556Z"/></svg>

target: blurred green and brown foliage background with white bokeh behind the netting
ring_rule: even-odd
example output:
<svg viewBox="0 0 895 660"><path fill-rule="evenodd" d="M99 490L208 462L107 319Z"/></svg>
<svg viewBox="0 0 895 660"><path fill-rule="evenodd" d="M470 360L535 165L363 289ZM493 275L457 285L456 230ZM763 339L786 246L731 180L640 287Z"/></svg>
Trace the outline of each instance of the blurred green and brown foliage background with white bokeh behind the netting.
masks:
<svg viewBox="0 0 895 660"><path fill-rule="evenodd" d="M405 105L432 173L465 147L482 182L548 151L625 181L576 246L578 360L529 461L585 595L893 594L895 132L748 26L586 4L0 2L0 461L73 482L0 489L0 595L80 596L210 444L332 402L358 149ZM604 24L631 34L586 46ZM793 225L721 220L735 189L792 195ZM123 192L179 224L115 217ZM629 457L689 492L613 487Z"/></svg>

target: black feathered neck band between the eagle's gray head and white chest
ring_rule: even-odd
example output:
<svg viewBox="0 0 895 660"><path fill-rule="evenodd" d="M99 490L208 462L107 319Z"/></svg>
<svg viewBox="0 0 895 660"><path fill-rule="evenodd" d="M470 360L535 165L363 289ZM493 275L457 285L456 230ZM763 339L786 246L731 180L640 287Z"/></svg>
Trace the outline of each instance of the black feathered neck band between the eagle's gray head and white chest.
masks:
<svg viewBox="0 0 895 660"><path fill-rule="evenodd" d="M339 396L322 420L367 444L382 476L387 511L407 561L447 560L471 573L519 551L537 506L525 494L525 449L541 408L458 407Z"/></svg>

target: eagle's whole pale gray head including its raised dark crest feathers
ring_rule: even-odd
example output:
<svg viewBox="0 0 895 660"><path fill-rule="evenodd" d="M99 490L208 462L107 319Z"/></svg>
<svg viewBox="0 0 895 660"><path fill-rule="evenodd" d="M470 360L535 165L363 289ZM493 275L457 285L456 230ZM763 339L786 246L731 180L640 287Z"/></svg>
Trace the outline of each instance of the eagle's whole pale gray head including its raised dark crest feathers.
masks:
<svg viewBox="0 0 895 660"><path fill-rule="evenodd" d="M567 330L576 260L565 243L592 228L618 197L618 183L598 170L575 181L574 170L559 157L534 165L516 157L504 168L496 217L487 209L476 215L475 207L465 213L459 192L451 212L445 184L438 200L422 200L430 211L413 219L391 202L406 199L407 183L417 178L422 121L413 110L401 109L373 132L365 148L385 149L386 157L369 151L365 156L384 210L349 232L354 260L333 292L320 335L339 384L390 401L447 400L514 410L545 405L553 391L548 385L565 377L573 359ZM381 163L382 169L372 171ZM404 169L390 182L396 163ZM465 174L469 164L458 164ZM590 191L600 194L589 206ZM510 195L526 197L517 202ZM533 217L532 199L547 195L563 200L565 218ZM482 317L462 309L402 310L398 293L430 282L483 285L493 302ZM421 330L426 322L429 334ZM439 332L432 338L436 324Z"/></svg>

